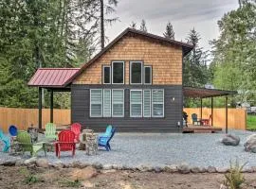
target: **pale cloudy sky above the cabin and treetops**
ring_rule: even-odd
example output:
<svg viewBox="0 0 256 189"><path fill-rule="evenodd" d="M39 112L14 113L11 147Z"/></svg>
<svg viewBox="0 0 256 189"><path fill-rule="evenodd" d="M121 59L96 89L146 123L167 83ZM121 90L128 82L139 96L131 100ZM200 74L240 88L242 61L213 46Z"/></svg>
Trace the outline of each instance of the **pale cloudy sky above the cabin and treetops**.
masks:
<svg viewBox="0 0 256 189"><path fill-rule="evenodd" d="M194 27L201 36L199 45L210 50L209 41L219 35L217 21L237 8L238 0L119 0L116 13L109 15L119 17L119 21L106 26L106 35L111 42L132 22L139 28L144 19L149 33L162 36L170 21L176 41L186 42Z"/></svg>

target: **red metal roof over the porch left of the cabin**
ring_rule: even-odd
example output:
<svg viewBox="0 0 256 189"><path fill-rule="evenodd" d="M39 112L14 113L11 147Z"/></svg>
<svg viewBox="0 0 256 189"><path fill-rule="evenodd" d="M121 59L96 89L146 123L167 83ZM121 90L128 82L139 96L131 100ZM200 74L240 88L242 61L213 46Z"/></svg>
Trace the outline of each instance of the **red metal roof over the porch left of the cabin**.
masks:
<svg viewBox="0 0 256 189"><path fill-rule="evenodd" d="M79 70L80 68L39 68L29 80L28 86L64 87L66 81Z"/></svg>

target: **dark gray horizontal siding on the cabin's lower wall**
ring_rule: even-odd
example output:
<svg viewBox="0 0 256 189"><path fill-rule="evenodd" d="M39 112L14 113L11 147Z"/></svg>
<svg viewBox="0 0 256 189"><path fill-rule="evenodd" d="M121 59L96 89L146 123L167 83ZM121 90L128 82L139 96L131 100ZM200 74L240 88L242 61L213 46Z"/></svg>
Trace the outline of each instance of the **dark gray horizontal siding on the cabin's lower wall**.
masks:
<svg viewBox="0 0 256 189"><path fill-rule="evenodd" d="M124 117L91 118L90 117L90 89L125 89ZM134 118L130 117L130 89L164 89L163 118ZM171 98L174 97L174 101ZM108 124L115 126L119 131L142 132L179 132L177 122L182 121L182 86L131 86L131 85L72 85L71 86L71 120L79 122L83 129L89 128L103 131Z"/></svg>

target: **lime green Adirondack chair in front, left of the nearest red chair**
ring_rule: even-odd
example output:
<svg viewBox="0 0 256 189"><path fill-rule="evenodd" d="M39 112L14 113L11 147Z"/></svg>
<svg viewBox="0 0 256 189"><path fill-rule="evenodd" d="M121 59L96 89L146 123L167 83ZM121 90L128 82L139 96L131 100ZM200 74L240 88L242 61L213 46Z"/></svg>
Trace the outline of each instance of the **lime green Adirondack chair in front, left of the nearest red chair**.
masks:
<svg viewBox="0 0 256 189"><path fill-rule="evenodd" d="M44 150L46 155L46 149L44 147L44 142L34 143L31 142L31 136L25 130L19 130L16 140L21 147L23 153L26 151L30 152L31 156L36 156L37 152Z"/></svg>

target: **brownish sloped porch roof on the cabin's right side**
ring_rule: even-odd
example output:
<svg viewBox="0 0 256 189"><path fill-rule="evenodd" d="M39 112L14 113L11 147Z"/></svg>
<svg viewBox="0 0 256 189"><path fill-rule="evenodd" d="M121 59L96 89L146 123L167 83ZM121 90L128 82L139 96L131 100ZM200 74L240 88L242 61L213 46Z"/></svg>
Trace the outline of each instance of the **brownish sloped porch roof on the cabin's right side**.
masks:
<svg viewBox="0 0 256 189"><path fill-rule="evenodd" d="M236 91L220 90L220 89L183 87L183 94L186 97L207 98L207 97L216 97L216 96L223 96L223 95L232 95L232 94L237 94L237 92Z"/></svg>

